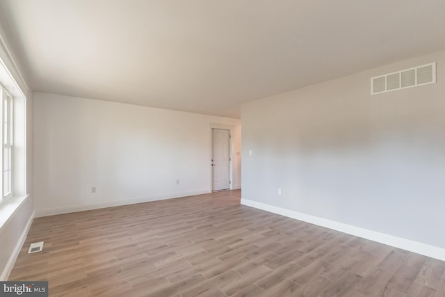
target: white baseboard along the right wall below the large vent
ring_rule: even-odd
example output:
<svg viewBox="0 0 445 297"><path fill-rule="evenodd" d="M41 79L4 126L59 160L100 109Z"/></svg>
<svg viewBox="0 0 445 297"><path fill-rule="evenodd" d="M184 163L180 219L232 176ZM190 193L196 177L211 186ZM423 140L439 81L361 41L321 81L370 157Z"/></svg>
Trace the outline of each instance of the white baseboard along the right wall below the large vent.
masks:
<svg viewBox="0 0 445 297"><path fill-rule="evenodd" d="M396 248L401 248L403 250L408 250L410 252L416 252L420 255L425 255L435 259L445 261L445 249L439 248L437 246L430 246L426 243L421 243L418 241L412 241L410 239L404 239L398 236L393 236L381 232L376 232L369 229L364 229L361 227L355 227L353 225L348 225L344 223L339 223L334 220L328 220L327 218L320 218L318 216L311 216L308 214L302 214L298 211L292 211L289 209L283 209L281 207L274 207L269 204L264 204L261 202L241 199L241 204L248 207L254 207L257 209L262 209L265 211L272 212L274 214L280 214L282 216L287 216L289 218L295 218L296 220L302 220L307 223L312 223L314 225L327 227L332 230L337 230L340 232L348 233L354 236L362 237L364 239L369 239L372 241L377 241L379 243L387 244L388 246L394 246Z"/></svg>

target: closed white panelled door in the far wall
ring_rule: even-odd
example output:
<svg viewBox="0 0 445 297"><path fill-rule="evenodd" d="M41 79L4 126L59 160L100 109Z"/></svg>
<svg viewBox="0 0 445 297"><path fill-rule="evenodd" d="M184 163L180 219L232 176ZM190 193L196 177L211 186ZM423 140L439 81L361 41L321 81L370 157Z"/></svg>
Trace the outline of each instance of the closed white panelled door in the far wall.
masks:
<svg viewBox="0 0 445 297"><path fill-rule="evenodd" d="M230 188L230 130L211 129L212 191Z"/></svg>

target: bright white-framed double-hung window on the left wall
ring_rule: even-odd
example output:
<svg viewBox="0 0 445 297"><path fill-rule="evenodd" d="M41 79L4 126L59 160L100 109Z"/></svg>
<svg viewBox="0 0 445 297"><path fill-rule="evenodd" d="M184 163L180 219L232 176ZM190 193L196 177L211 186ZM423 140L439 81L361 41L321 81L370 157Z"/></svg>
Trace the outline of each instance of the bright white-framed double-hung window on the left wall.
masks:
<svg viewBox="0 0 445 297"><path fill-rule="evenodd" d="M1 124L3 139L2 147L2 195L1 200L9 198L13 195L13 98L4 88L0 86L2 112L1 112Z"/></svg>

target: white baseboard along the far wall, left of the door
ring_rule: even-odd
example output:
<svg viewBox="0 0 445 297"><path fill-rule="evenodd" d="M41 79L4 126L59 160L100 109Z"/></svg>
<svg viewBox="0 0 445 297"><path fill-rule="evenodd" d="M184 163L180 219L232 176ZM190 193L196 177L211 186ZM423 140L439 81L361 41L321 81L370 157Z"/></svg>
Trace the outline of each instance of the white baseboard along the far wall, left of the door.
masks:
<svg viewBox="0 0 445 297"><path fill-rule="evenodd" d="M186 197L186 196L191 196L191 195L201 195L201 194L207 194L207 193L209 193L209 191L195 191L195 192L177 193L177 194L172 194L172 195L159 195L159 196L152 196L152 197L148 197L148 198L138 198L138 199L131 199L131 200L106 201L106 202L99 202L99 203L92 203L92 204L70 205L70 206L66 206L66 207L54 207L54 208L50 208L50 209L36 209L35 217L40 218L42 216L55 216L58 214L70 214L71 212L77 212L77 211L101 209L101 208L106 208L106 207L118 207L121 205L167 200L167 199L181 198L181 197Z"/></svg>

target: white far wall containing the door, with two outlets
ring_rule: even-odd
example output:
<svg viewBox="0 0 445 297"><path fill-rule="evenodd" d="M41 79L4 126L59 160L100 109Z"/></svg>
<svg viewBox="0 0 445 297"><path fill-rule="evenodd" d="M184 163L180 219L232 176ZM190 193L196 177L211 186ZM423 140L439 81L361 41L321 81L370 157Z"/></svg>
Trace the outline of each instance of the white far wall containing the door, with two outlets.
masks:
<svg viewBox="0 0 445 297"><path fill-rule="evenodd" d="M211 123L235 127L239 188L239 120L35 93L37 215L208 193Z"/></svg>

